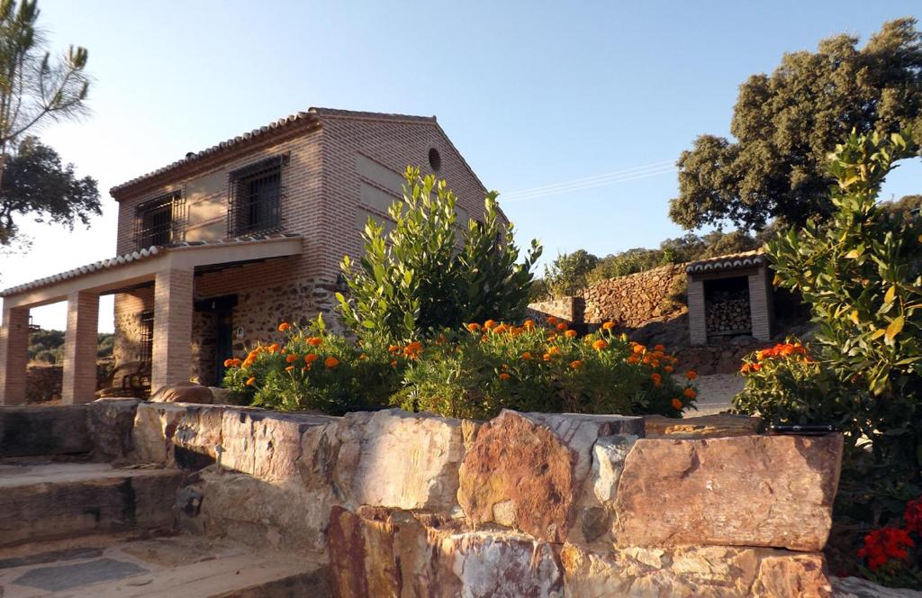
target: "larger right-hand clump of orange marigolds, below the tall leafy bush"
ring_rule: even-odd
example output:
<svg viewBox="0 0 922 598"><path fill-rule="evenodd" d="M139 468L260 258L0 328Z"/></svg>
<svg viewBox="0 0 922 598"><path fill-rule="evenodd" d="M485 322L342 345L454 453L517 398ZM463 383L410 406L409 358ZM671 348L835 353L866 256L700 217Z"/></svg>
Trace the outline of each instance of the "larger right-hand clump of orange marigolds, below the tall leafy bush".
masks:
<svg viewBox="0 0 922 598"><path fill-rule="evenodd" d="M563 324L469 324L466 334L431 345L409 364L394 403L477 419L502 409L675 417L693 404L694 389L671 377L676 360L664 347L647 351L611 328L579 338Z"/></svg>

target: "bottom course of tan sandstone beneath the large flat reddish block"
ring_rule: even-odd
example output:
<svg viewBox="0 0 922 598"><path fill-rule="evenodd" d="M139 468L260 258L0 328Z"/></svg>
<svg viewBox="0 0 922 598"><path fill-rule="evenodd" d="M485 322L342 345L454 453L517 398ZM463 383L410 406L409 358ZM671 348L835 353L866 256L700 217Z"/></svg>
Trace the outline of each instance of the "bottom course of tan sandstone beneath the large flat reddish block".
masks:
<svg viewBox="0 0 922 598"><path fill-rule="evenodd" d="M769 548L689 546L561 551L564 592L580 598L821 598L830 596L822 554Z"/></svg>

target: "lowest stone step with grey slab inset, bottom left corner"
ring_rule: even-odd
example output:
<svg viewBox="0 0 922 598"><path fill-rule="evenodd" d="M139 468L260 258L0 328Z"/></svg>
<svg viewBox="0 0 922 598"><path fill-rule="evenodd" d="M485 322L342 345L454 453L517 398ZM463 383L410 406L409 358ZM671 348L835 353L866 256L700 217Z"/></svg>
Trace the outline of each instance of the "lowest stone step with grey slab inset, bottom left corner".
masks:
<svg viewBox="0 0 922 598"><path fill-rule="evenodd" d="M321 563L242 544L177 534L95 536L0 549L4 598L275 598L329 596Z"/></svg>

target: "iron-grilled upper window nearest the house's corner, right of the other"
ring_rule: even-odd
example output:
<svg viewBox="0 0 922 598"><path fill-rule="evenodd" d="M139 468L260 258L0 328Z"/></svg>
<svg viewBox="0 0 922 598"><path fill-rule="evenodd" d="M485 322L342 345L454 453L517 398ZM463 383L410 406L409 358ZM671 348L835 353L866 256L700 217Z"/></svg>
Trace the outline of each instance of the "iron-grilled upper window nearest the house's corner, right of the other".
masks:
<svg viewBox="0 0 922 598"><path fill-rule="evenodd" d="M228 236L282 229L282 167L289 154L273 156L231 173L228 183Z"/></svg>

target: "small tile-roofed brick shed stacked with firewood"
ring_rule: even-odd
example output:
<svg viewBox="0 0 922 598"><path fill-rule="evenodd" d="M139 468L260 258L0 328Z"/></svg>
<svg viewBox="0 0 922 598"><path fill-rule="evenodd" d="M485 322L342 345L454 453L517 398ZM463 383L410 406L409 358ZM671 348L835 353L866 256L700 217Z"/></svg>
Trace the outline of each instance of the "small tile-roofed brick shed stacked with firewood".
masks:
<svg viewBox="0 0 922 598"><path fill-rule="evenodd" d="M772 338L772 281L761 250L691 262L685 270L691 344L718 336Z"/></svg>

